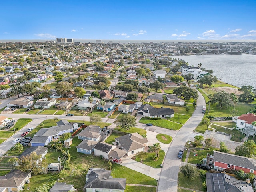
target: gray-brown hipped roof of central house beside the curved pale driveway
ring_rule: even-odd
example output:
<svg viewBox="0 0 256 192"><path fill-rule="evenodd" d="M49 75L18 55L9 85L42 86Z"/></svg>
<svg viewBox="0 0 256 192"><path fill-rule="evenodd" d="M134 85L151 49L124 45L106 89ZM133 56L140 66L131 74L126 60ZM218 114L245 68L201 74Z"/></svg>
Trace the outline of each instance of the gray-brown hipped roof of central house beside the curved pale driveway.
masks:
<svg viewBox="0 0 256 192"><path fill-rule="evenodd" d="M127 135L115 138L116 141L121 144L126 151L132 151L145 147L143 144L148 143L147 138L143 138L138 133L129 133Z"/></svg>

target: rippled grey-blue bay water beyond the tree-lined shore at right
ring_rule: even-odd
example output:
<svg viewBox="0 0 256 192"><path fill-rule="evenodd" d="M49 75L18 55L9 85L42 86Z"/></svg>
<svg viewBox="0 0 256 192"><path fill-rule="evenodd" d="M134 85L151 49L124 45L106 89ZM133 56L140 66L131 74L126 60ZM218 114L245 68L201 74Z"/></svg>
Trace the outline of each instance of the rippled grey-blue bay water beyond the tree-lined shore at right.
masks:
<svg viewBox="0 0 256 192"><path fill-rule="evenodd" d="M182 59L190 66L212 69L213 75L237 87L251 85L256 88L256 55L191 55L171 56Z"/></svg>

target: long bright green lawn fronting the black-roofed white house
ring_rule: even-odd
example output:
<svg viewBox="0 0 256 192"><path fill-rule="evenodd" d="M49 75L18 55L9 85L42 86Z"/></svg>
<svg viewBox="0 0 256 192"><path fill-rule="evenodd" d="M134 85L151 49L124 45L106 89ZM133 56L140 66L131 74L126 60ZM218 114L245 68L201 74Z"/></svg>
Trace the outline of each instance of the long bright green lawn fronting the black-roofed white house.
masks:
<svg viewBox="0 0 256 192"><path fill-rule="evenodd" d="M177 124L176 122L171 122L169 120L166 119L156 119L156 120L151 120L151 119L147 119L147 118L141 118L140 123L152 123L154 126L157 127L162 127L162 128L166 128L166 129L172 129L172 130L178 130L182 127L182 124Z"/></svg>

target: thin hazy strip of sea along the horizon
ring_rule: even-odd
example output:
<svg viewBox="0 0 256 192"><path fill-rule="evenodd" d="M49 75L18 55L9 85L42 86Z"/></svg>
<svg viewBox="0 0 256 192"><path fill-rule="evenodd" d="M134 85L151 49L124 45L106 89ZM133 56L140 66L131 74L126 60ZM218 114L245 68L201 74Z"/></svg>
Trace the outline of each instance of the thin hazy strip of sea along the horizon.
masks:
<svg viewBox="0 0 256 192"><path fill-rule="evenodd" d="M207 42L212 42L212 43L227 43L227 42L256 42L256 40L234 40L234 39L230 39L230 40L220 40L220 39L212 39L212 40L124 40L124 39L76 39L73 38L74 42L80 42L80 43L96 43L97 40L102 40L102 42L104 43L108 43L108 42L113 42L113 43L149 43L149 42L153 42L153 43L164 43L164 42L203 42L203 43L207 43ZM55 41L56 39L0 39L1 43L7 43L7 42L46 42L46 41Z"/></svg>

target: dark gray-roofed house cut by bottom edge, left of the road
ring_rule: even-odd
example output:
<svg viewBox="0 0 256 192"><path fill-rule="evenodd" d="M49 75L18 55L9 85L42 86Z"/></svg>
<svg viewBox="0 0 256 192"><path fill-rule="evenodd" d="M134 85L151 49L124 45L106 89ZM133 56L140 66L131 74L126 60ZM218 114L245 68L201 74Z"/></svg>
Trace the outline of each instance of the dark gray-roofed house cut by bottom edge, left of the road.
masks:
<svg viewBox="0 0 256 192"><path fill-rule="evenodd" d="M126 179L113 178L111 171L90 168L86 174L84 191L86 192L124 192Z"/></svg>

